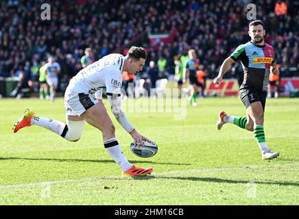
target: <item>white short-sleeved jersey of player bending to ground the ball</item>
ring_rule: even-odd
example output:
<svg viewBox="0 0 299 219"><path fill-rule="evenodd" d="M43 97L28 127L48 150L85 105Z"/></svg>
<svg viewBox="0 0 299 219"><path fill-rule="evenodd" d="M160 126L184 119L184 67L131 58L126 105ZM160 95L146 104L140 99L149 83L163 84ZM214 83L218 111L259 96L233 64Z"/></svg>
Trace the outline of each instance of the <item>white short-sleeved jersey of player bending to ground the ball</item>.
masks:
<svg viewBox="0 0 299 219"><path fill-rule="evenodd" d="M107 94L121 94L123 64L125 57L112 53L80 70L71 79L68 90L72 94L95 94L106 87Z"/></svg>

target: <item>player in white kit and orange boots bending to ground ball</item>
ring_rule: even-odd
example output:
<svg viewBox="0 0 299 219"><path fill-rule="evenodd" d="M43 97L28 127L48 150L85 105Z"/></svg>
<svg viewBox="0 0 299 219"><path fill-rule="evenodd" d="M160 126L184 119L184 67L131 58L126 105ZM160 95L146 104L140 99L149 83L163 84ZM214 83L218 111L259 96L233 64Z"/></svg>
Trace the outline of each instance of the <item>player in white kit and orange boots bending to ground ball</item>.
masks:
<svg viewBox="0 0 299 219"><path fill-rule="evenodd" d="M143 144L142 140L147 140L147 138L134 129L121 110L121 73L128 71L130 74L136 74L142 70L145 59L146 53L142 47L131 47L125 57L121 54L104 56L101 60L80 70L71 79L64 94L67 125L58 120L35 116L34 112L27 109L23 117L14 125L14 133L23 127L38 125L58 133L62 138L75 142L80 139L86 121L102 132L106 150L125 174L150 174L152 168L137 168L125 158L115 138L115 126L112 124L104 104L95 98L97 90L106 87L108 100L115 118L123 129L130 133L136 144Z"/></svg>

